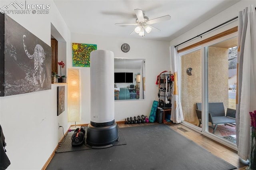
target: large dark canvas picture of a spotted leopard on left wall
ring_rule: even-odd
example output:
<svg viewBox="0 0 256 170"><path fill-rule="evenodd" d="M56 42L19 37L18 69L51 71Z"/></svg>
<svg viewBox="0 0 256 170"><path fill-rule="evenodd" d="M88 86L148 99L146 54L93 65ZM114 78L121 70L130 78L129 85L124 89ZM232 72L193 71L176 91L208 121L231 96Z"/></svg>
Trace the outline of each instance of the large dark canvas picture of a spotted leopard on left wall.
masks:
<svg viewBox="0 0 256 170"><path fill-rule="evenodd" d="M49 45L0 14L0 96L51 89Z"/></svg>

